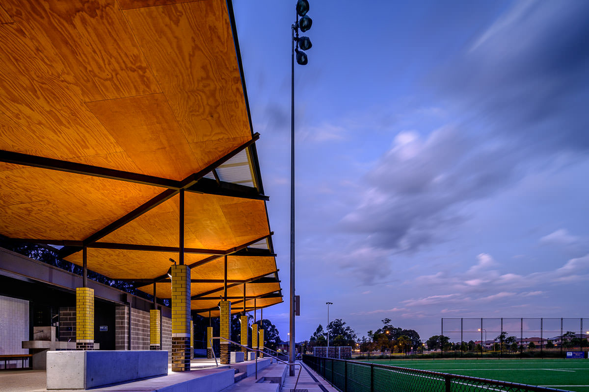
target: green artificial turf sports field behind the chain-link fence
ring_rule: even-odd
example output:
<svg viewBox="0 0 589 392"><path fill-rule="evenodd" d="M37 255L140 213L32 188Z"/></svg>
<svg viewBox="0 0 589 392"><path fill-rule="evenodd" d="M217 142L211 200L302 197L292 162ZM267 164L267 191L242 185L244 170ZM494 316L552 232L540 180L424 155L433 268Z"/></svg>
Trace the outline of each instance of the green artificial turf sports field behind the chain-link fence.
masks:
<svg viewBox="0 0 589 392"><path fill-rule="evenodd" d="M586 359L501 359L501 360L364 360L366 362L439 371L512 383L589 392L589 360ZM364 362L363 361L363 362Z"/></svg>

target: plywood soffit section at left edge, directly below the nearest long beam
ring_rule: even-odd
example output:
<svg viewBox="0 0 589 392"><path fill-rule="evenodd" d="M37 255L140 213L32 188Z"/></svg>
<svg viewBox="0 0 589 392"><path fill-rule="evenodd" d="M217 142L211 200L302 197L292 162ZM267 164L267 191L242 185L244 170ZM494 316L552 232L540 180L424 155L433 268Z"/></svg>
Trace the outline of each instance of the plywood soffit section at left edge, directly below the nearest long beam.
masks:
<svg viewBox="0 0 589 392"><path fill-rule="evenodd" d="M83 240L161 189L37 167L0 172L0 233L15 238ZM10 185L10 186L8 186Z"/></svg>

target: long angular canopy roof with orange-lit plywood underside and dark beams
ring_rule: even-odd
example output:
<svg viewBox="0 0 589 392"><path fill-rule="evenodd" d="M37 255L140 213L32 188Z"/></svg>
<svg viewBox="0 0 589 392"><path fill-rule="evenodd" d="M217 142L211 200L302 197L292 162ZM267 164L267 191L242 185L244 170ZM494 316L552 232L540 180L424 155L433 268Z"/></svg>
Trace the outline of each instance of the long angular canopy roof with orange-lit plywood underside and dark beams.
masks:
<svg viewBox="0 0 589 392"><path fill-rule="evenodd" d="M183 227L193 309L225 255L280 302L257 138L230 1L0 0L0 234L169 297Z"/></svg>

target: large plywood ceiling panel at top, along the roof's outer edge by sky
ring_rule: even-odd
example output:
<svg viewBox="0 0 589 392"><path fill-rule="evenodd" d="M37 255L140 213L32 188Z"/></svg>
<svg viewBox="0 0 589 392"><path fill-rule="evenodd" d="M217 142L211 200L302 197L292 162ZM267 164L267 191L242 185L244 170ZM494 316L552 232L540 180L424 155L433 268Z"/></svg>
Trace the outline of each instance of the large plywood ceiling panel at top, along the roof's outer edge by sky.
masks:
<svg viewBox="0 0 589 392"><path fill-rule="evenodd" d="M123 13L188 143L251 138L226 2Z"/></svg>

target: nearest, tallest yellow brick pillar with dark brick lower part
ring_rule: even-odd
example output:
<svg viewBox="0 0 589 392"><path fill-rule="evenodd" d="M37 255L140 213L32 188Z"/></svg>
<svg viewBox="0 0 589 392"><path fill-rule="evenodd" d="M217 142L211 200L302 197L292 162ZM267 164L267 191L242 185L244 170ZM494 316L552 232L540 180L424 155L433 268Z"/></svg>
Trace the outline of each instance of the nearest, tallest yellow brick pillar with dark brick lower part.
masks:
<svg viewBox="0 0 589 392"><path fill-rule="evenodd" d="M190 370L190 268L172 266L172 371Z"/></svg>

